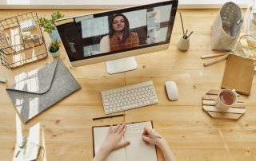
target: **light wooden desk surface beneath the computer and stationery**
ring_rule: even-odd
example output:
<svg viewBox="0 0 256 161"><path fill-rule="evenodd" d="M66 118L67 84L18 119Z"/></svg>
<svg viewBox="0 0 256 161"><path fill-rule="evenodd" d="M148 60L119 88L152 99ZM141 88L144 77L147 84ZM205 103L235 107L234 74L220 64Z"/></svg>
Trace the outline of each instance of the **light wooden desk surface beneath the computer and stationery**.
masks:
<svg viewBox="0 0 256 161"><path fill-rule="evenodd" d="M1 10L0 19L30 10ZM38 15L50 16L53 10L37 10ZM61 10L66 17L87 14L99 10ZM202 95L210 88L220 88L225 61L203 67L200 56L210 50L210 26L218 10L182 10L186 29L194 30L190 37L190 49L177 49L182 35L179 17L176 17L170 48L136 57L138 69L127 73L109 75L105 63L70 69L82 85L82 89L68 96L54 107L22 124L23 135L36 123L42 126L42 141L46 148L46 160L91 160L92 132L94 125L118 124L122 121L153 120L154 128L168 141L178 160L256 160L256 76L250 96L246 100L246 113L240 120L212 119L202 111ZM45 33L46 41L49 36ZM66 53L62 47L62 60L67 67ZM24 65L18 69L0 67L0 76L8 79L0 84L0 160L9 161L14 155L16 139L16 112L5 88L14 84L18 73L42 68L52 61L49 55L42 61ZM126 112L125 117L97 120L103 116L100 91L125 84L154 81L159 103ZM167 99L164 84L176 81L179 100ZM162 154L158 151L159 160Z"/></svg>

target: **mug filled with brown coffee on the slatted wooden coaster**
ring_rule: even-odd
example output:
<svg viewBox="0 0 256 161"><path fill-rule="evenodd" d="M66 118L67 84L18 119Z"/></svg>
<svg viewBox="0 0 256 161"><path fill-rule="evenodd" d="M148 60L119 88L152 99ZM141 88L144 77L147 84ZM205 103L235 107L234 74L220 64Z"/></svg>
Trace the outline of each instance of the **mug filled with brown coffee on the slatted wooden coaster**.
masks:
<svg viewBox="0 0 256 161"><path fill-rule="evenodd" d="M237 95L234 90L223 89L218 93L215 107L221 111L227 111L237 102Z"/></svg>

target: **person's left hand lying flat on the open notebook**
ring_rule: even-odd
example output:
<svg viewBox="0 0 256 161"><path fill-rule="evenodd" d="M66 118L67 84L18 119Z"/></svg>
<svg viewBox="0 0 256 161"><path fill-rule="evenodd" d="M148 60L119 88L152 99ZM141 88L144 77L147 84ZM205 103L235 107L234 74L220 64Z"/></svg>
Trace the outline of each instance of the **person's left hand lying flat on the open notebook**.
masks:
<svg viewBox="0 0 256 161"><path fill-rule="evenodd" d="M102 143L102 150L107 152L126 147L130 144L129 141L122 141L122 136L126 132L126 124L118 124L117 126L110 126L107 132L106 139Z"/></svg>

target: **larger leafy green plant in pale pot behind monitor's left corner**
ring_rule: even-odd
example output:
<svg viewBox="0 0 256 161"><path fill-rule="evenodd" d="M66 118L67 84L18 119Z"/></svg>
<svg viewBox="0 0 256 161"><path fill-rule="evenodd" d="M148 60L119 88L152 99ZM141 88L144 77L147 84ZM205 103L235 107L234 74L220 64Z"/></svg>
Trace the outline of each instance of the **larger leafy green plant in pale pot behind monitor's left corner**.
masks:
<svg viewBox="0 0 256 161"><path fill-rule="evenodd" d="M61 37L58 34L58 30L55 26L55 20L64 18L64 14L61 14L59 11L53 12L50 19L45 17L39 18L39 26L44 28L44 31L47 32L52 40L57 38L58 41L61 41Z"/></svg>

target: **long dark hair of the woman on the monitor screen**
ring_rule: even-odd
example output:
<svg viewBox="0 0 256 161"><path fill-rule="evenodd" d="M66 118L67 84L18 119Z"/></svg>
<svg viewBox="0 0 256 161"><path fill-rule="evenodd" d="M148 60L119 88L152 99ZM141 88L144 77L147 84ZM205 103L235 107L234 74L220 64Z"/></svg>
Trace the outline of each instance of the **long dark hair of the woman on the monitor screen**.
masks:
<svg viewBox="0 0 256 161"><path fill-rule="evenodd" d="M111 18L111 21L110 21L110 38L113 37L114 35L114 28L113 28L113 22L114 22L114 18L118 17L118 16L122 16L122 18L124 19L125 21L125 27L124 29L122 30L123 32L123 36L122 36L122 41L126 41L126 39L129 37L129 34L130 34L130 25L129 25L129 21L128 21L128 18L126 18L125 15L123 14L115 14L113 16L113 18Z"/></svg>

